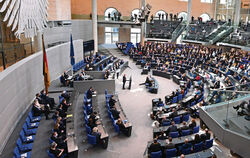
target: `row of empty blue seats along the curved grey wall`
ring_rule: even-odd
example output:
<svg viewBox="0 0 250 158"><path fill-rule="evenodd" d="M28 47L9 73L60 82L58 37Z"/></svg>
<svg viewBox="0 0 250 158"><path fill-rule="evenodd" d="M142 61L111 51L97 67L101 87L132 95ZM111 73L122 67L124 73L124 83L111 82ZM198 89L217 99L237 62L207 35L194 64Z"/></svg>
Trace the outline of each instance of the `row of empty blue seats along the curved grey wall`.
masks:
<svg viewBox="0 0 250 158"><path fill-rule="evenodd" d="M16 147L13 152L14 158L31 157L32 145L40 120L41 116L34 116L32 110L29 112L16 142Z"/></svg>

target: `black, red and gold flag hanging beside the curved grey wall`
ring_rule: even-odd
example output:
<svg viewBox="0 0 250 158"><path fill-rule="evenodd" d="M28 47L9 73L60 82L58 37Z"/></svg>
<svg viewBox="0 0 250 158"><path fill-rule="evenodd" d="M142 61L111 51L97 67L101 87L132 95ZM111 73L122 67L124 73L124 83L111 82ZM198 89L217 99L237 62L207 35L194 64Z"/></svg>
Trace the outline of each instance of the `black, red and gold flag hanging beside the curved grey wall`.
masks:
<svg viewBox="0 0 250 158"><path fill-rule="evenodd" d="M49 81L49 67L48 67L48 61L47 61L45 46L44 46L43 35L42 35L42 47L43 47L43 76L44 76L44 86L45 86L46 94L48 94L48 89L49 89L49 86L50 86L50 81Z"/></svg>

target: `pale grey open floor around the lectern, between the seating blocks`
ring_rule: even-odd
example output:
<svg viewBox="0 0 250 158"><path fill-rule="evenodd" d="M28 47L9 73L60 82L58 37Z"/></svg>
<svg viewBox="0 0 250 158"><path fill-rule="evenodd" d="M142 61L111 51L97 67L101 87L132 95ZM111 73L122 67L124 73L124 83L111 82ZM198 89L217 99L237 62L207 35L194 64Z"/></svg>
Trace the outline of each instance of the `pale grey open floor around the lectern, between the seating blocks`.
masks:
<svg viewBox="0 0 250 158"><path fill-rule="evenodd" d="M116 92L119 95L121 105L128 119L132 122L133 130L131 137L113 140L111 144L113 151L118 152L119 158L142 157L146 148L147 141L152 139L152 120L149 118L149 113L152 111L152 99L156 97L164 98L165 95L170 94L173 90L178 88L172 80L161 77L155 77L159 82L158 94L149 93L145 86L139 86L146 79L146 75L141 75L141 69L128 56L123 56L118 49L110 49L110 52L129 61L129 67L124 73L127 78L132 76L131 90L122 90L122 76L116 80Z"/></svg>

